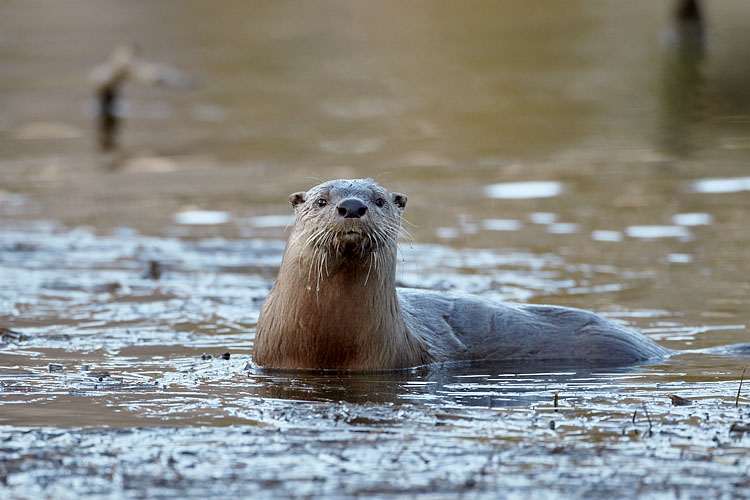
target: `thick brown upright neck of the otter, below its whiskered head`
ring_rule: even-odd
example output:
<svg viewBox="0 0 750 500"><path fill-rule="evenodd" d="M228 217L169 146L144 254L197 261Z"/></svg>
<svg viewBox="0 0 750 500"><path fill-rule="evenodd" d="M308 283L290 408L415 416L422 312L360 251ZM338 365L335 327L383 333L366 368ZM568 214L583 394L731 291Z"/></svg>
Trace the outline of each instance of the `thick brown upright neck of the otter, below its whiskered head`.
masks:
<svg viewBox="0 0 750 500"><path fill-rule="evenodd" d="M258 321L258 364L383 370L429 362L399 308L395 243L376 262L345 251L323 258L290 241Z"/></svg>

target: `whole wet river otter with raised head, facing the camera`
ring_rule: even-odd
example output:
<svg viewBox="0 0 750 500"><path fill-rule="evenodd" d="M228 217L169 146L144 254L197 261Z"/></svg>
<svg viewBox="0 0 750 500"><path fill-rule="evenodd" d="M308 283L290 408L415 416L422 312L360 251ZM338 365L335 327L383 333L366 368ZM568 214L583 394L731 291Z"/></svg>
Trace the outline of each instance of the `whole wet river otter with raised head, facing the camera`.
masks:
<svg viewBox="0 0 750 500"><path fill-rule="evenodd" d="M397 289L406 196L372 179L289 197L296 222L261 309L267 368L391 370L468 360L622 365L671 351L592 312Z"/></svg>

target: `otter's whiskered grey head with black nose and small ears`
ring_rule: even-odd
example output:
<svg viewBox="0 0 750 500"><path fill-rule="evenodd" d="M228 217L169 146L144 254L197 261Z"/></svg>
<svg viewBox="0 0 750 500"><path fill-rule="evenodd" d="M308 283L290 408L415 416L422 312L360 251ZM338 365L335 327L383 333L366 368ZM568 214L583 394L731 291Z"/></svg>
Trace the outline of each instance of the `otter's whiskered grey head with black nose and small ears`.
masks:
<svg viewBox="0 0 750 500"><path fill-rule="evenodd" d="M372 179L324 182L289 201L298 241L347 257L395 249L406 207L406 195L389 193Z"/></svg>

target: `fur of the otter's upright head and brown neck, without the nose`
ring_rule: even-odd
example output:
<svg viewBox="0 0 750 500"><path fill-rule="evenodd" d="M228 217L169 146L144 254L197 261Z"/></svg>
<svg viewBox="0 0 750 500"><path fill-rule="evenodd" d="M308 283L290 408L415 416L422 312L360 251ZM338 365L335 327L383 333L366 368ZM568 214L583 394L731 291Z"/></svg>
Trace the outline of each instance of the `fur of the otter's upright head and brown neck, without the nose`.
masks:
<svg viewBox="0 0 750 500"><path fill-rule="evenodd" d="M361 218L338 203L356 198ZM325 206L319 205L325 200ZM371 179L290 196L296 222L258 320L253 358L268 368L383 370L430 363L407 329L395 286L406 197Z"/></svg>

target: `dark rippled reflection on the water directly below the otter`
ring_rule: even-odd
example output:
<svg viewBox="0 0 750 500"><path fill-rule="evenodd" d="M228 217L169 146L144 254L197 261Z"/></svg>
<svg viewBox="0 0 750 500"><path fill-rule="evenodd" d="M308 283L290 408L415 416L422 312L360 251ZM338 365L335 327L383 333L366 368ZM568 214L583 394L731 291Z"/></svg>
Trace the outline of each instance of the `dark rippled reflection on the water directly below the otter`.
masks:
<svg viewBox="0 0 750 500"><path fill-rule="evenodd" d="M560 363L478 362L379 374L260 371L249 375L248 380L253 396L277 400L493 408L551 403L555 392L572 391L573 387L581 396L637 370L581 369Z"/></svg>

